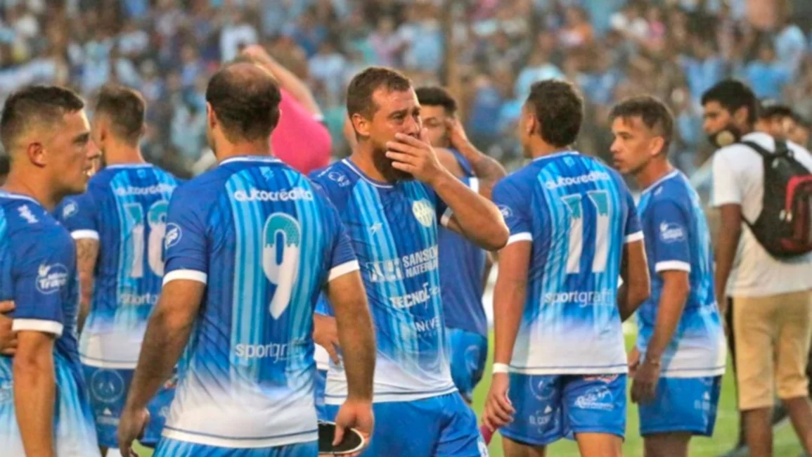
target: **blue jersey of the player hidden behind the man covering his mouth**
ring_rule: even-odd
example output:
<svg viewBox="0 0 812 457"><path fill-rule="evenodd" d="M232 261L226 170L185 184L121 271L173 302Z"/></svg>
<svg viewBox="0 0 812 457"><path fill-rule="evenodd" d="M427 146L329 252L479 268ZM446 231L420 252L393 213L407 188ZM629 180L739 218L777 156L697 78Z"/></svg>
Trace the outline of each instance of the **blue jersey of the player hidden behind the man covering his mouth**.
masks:
<svg viewBox="0 0 812 457"><path fill-rule="evenodd" d="M479 192L479 181L471 165L459 152L449 149L465 173L462 181ZM463 235L440 227L440 284L443 287L443 317L446 326L487 336L488 320L482 307L482 276L485 251Z"/></svg>

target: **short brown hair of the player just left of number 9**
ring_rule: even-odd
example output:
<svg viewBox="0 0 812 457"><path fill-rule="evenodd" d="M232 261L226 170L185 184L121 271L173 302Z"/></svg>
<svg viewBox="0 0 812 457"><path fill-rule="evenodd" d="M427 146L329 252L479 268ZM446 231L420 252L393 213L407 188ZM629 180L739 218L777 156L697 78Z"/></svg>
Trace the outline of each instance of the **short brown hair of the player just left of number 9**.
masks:
<svg viewBox="0 0 812 457"><path fill-rule="evenodd" d="M132 146L138 144L144 131L146 102L132 88L119 84L105 84L96 96L94 116L110 119L113 134Z"/></svg>

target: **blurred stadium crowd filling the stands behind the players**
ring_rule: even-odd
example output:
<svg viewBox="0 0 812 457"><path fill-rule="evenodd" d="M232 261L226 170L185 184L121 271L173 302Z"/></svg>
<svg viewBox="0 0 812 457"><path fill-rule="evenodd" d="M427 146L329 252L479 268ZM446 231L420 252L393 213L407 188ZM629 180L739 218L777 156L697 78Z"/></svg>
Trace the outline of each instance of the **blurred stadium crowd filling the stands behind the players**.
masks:
<svg viewBox="0 0 812 457"><path fill-rule="evenodd" d="M67 84L85 96L106 82L137 88L149 104L145 154L179 175L189 175L206 149L205 82L253 43L266 45L313 89L339 157L348 153L343 88L375 64L400 68L417 85L456 87L474 144L506 163L520 153L505 133L515 130L530 83L546 77L571 80L585 94L580 144L590 151L608 153L606 119L616 101L635 91L667 101L677 119L676 162L687 171L710 152L699 97L723 77L740 76L759 97L793 101L812 119L812 42L800 10L794 22L759 32L746 20L743 0L441 4L6 1L0 99L32 82ZM453 81L448 63L456 67Z"/></svg>

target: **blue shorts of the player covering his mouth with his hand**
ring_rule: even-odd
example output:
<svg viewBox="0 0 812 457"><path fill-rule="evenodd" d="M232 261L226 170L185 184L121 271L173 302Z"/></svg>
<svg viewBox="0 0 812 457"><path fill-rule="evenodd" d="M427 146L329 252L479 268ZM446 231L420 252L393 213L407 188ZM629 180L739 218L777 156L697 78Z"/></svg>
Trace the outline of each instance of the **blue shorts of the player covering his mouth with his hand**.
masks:
<svg viewBox="0 0 812 457"><path fill-rule="evenodd" d="M327 405L330 420L339 412ZM460 395L374 403L375 430L363 457L487 457L477 416Z"/></svg>

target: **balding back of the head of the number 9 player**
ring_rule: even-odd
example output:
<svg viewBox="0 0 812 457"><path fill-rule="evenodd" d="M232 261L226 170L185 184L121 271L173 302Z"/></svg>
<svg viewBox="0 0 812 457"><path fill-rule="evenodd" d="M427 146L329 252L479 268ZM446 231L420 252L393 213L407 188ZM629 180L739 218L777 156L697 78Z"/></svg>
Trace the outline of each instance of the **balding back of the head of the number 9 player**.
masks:
<svg viewBox="0 0 812 457"><path fill-rule="evenodd" d="M276 80L253 63L222 67L209 80L205 98L231 143L266 140L279 123L282 94Z"/></svg>

